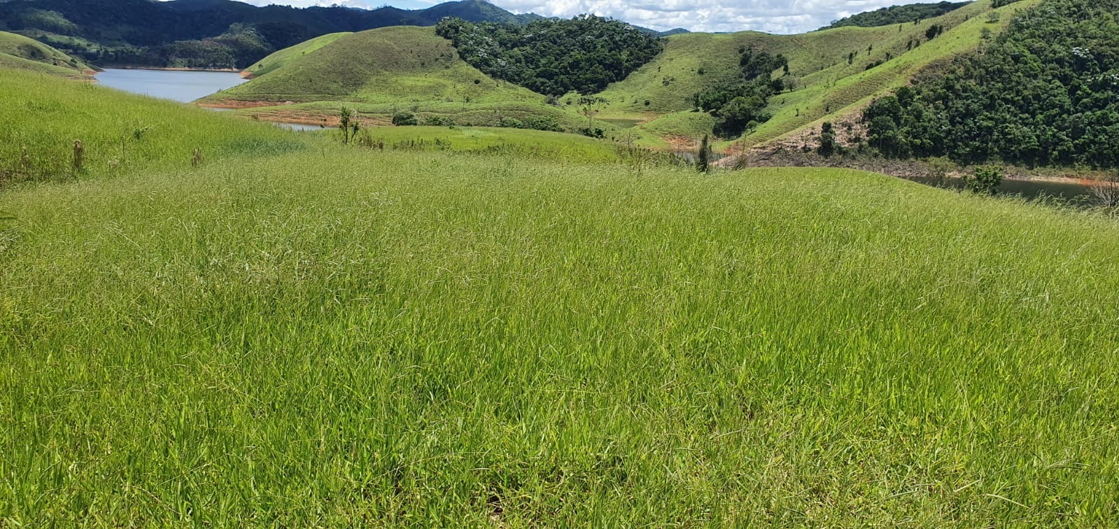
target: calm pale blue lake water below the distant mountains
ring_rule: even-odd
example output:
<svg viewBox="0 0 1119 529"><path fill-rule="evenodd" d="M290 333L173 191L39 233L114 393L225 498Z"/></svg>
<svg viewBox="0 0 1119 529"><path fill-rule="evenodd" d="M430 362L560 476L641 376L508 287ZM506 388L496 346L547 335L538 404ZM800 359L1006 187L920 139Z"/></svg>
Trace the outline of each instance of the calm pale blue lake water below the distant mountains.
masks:
<svg viewBox="0 0 1119 529"><path fill-rule="evenodd" d="M107 68L97 74L105 86L188 103L245 82L236 72L173 72Z"/></svg>

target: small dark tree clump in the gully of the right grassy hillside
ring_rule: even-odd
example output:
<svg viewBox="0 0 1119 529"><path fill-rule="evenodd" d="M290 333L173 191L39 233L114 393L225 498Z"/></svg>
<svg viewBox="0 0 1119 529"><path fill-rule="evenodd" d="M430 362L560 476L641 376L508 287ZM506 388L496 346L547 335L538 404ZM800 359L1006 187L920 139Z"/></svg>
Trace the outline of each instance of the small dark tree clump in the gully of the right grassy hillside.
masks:
<svg viewBox="0 0 1119 529"><path fill-rule="evenodd" d="M723 136L742 134L769 121L765 105L770 96L784 87L781 77L773 77L773 73L789 74L789 62L781 54L770 55L753 48L742 48L739 54L741 68L734 76L718 79L694 96L696 108L718 119L715 132Z"/></svg>

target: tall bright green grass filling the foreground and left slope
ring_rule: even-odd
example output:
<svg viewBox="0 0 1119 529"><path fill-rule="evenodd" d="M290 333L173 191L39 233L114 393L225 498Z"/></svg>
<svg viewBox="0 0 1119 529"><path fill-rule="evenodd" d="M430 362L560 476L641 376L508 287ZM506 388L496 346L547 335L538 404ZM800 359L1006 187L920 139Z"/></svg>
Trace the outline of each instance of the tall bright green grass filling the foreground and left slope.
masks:
<svg viewBox="0 0 1119 529"><path fill-rule="evenodd" d="M1113 219L344 148L35 74L0 107L44 155L144 154L0 190L6 525L1119 514Z"/></svg>

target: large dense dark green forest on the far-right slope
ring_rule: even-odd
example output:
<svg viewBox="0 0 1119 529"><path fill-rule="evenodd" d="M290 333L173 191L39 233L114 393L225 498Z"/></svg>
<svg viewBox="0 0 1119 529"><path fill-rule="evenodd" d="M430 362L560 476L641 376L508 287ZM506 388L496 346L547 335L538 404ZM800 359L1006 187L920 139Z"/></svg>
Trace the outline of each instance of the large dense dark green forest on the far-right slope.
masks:
<svg viewBox="0 0 1119 529"><path fill-rule="evenodd" d="M981 53L864 112L891 157L1119 167L1119 0L1045 0Z"/></svg>

